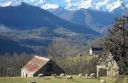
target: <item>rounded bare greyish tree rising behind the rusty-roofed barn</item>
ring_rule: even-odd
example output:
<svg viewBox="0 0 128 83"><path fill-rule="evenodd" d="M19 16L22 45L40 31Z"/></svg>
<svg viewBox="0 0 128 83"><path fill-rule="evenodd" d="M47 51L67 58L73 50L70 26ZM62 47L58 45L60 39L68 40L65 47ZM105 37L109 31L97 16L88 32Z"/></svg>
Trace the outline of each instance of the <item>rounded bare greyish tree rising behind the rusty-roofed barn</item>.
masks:
<svg viewBox="0 0 128 83"><path fill-rule="evenodd" d="M66 40L53 41L48 47L48 55L52 57L62 57L71 54L72 48Z"/></svg>

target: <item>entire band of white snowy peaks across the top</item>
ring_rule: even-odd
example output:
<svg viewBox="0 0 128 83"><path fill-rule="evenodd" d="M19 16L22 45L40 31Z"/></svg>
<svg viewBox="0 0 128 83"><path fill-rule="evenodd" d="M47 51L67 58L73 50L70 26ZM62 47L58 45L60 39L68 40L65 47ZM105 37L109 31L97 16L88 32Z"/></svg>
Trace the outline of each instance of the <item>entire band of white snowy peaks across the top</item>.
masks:
<svg viewBox="0 0 128 83"><path fill-rule="evenodd" d="M0 0L0 6L16 6L25 2L43 9L56 9L59 6L68 10L94 9L112 12L116 8L128 6L128 0Z"/></svg>

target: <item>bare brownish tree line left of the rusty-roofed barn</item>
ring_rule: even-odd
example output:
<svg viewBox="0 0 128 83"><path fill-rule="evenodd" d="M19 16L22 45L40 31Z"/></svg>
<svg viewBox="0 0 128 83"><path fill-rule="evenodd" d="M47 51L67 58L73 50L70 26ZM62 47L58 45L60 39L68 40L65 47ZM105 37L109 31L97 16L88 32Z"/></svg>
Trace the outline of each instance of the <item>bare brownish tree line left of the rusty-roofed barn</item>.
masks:
<svg viewBox="0 0 128 83"><path fill-rule="evenodd" d="M0 55L0 77L20 76L21 68L32 58L28 54Z"/></svg>

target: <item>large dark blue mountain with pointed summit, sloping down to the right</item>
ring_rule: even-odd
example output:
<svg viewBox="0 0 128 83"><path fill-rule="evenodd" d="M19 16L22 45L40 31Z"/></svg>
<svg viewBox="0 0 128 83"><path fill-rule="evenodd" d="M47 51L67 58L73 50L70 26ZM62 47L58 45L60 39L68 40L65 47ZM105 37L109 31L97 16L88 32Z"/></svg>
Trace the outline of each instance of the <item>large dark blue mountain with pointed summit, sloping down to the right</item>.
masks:
<svg viewBox="0 0 128 83"><path fill-rule="evenodd" d="M54 30L56 28L65 28L79 33L98 34L88 26L65 21L46 10L26 3L16 7L1 7L0 12L0 24L13 29L24 30L44 27Z"/></svg>

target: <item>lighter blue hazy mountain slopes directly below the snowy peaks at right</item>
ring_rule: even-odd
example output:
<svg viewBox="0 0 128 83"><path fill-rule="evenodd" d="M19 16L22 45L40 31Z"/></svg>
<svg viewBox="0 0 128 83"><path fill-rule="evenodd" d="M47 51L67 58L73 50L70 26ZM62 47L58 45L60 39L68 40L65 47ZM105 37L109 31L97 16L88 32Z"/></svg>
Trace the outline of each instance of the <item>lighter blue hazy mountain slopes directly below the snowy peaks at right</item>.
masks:
<svg viewBox="0 0 128 83"><path fill-rule="evenodd" d="M57 9L48 9L54 15L70 21L75 24L88 26L89 28L105 34L108 28L115 21L115 18L125 14L121 9L117 8L113 12L97 11L92 9L66 10L62 7Z"/></svg>

